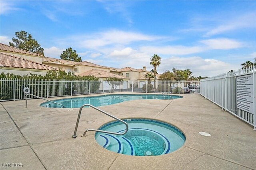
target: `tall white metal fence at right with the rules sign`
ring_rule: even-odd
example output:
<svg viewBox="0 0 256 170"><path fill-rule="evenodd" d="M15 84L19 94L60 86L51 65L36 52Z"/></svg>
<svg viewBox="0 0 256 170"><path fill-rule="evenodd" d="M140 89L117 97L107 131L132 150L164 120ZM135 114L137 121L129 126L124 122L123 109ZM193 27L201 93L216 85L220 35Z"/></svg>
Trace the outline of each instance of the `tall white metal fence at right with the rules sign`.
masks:
<svg viewBox="0 0 256 170"><path fill-rule="evenodd" d="M256 68L239 69L200 81L200 94L256 130Z"/></svg>

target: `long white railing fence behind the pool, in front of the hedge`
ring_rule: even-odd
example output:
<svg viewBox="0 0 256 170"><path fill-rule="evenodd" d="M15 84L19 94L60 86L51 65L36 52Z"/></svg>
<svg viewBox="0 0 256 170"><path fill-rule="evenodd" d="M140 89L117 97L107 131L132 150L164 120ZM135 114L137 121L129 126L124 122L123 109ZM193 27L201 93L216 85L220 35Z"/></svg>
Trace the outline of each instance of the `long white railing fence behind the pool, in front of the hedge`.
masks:
<svg viewBox="0 0 256 170"><path fill-rule="evenodd" d="M199 94L199 81L170 82L98 82L86 80L31 80L31 79L0 79L0 101L23 100L24 88L41 98L58 96L74 96L82 94L111 92L144 92L144 93L191 93ZM34 98L30 96L30 98Z"/></svg>

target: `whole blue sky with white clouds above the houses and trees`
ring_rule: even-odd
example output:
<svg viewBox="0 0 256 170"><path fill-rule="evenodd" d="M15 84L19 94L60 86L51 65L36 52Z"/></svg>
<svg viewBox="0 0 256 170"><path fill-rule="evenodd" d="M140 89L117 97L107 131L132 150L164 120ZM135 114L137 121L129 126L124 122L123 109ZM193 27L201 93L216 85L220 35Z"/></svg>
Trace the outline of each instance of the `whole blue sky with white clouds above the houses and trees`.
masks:
<svg viewBox="0 0 256 170"><path fill-rule="evenodd" d="M0 0L0 42L24 30L60 58L68 47L83 61L122 68L190 69L214 76L256 57L255 0Z"/></svg>

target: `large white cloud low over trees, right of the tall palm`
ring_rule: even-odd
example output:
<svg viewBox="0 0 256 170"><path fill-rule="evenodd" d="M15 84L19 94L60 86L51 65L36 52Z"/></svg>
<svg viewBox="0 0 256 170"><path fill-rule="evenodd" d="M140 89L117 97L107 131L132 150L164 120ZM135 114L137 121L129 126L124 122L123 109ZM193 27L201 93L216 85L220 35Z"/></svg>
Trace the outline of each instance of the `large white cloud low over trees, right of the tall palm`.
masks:
<svg viewBox="0 0 256 170"><path fill-rule="evenodd" d="M169 57L162 59L158 72L171 70L172 68L190 69L193 76L214 76L232 69L232 64L215 59L203 59L201 57Z"/></svg>

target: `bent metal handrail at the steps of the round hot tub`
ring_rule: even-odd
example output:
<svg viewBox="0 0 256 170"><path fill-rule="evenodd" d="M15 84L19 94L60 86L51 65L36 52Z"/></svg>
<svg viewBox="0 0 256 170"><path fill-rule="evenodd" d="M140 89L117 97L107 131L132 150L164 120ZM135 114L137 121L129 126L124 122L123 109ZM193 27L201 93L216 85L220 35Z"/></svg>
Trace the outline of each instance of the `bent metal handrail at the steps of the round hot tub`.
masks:
<svg viewBox="0 0 256 170"><path fill-rule="evenodd" d="M125 121L123 121L123 120L121 120L121 119L118 119L117 117L114 117L113 115L110 115L109 113L107 113L107 112L105 112L105 111L103 111L103 110L101 110L101 109L98 109L97 107L94 107L94 106L92 106L92 105L90 105L90 104L84 104L84 105L81 106L80 109L79 109L79 113L78 113L78 117L77 117L77 121L76 121L76 127L75 127L75 131L74 131L74 135L72 135L72 138L76 138L76 137L77 137L76 131L77 131L77 128L78 128L78 123L79 123L80 115L81 115L82 109L83 109L85 106L90 106L90 107L92 107L92 108L94 108L94 109L100 111L101 113L104 113L105 115L108 115L108 116L110 116L110 117L112 117L112 118L114 118L114 119L116 119L116 120L118 120L118 121L124 123L124 124L126 125L126 130L124 131L124 133L115 133L115 132L110 132L110 131L102 131L102 130L98 130L98 129L87 129L86 131L84 131L84 134L82 135L82 137L86 137L86 132L88 132L88 131L109 133L109 134L113 134L113 135L124 135L124 134L126 134L126 132L128 131L128 124L127 124Z"/></svg>

